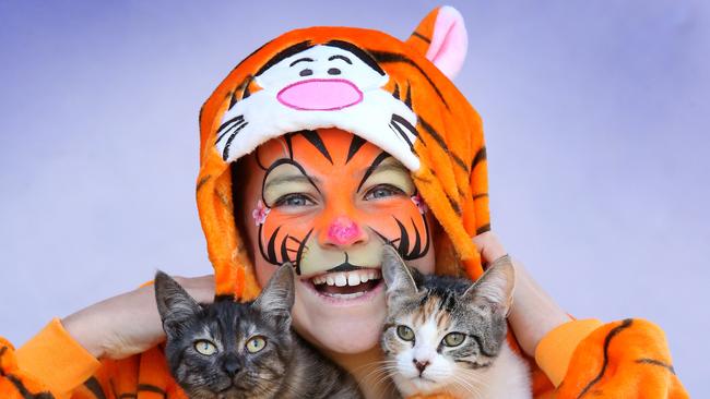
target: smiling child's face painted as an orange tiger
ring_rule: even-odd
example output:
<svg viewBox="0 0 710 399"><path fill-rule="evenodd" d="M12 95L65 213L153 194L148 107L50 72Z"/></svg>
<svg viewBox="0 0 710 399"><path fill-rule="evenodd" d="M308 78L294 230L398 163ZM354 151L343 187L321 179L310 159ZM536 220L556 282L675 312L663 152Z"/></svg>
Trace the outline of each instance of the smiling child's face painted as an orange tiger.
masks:
<svg viewBox="0 0 710 399"><path fill-rule="evenodd" d="M274 138L245 167L242 226L259 283L291 262L298 332L340 353L376 346L386 314L382 245L434 271L430 216L409 170L336 129Z"/></svg>

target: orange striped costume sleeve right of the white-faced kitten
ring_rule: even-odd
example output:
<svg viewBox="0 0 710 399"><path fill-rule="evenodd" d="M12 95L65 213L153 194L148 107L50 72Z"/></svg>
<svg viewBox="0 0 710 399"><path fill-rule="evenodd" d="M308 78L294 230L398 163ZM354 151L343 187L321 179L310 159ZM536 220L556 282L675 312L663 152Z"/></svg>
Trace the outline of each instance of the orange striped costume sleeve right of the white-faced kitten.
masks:
<svg viewBox="0 0 710 399"><path fill-rule="evenodd" d="M545 336L535 360L555 398L688 398L665 335L643 319L573 321Z"/></svg>

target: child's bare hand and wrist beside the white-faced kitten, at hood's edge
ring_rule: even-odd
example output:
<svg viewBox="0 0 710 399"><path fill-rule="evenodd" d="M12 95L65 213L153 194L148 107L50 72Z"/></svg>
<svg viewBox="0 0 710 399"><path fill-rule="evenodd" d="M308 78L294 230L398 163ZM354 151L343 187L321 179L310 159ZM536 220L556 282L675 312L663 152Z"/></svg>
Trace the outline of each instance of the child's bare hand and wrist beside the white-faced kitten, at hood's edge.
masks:
<svg viewBox="0 0 710 399"><path fill-rule="evenodd" d="M493 263L506 255L500 240L490 231L476 235L473 242L486 263ZM521 349L525 354L534 356L540 340L555 327L571 321L571 317L519 262L513 259L512 263L516 267L516 290L508 321Z"/></svg>

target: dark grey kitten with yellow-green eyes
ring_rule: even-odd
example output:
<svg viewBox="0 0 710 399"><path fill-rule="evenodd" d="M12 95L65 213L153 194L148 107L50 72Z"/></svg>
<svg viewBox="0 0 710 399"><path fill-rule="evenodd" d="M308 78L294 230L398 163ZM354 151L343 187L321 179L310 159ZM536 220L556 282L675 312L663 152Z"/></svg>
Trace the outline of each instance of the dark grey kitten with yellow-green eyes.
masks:
<svg viewBox="0 0 710 399"><path fill-rule="evenodd" d="M362 397L350 374L292 331L291 265L279 268L253 302L199 304L162 271L155 298L170 372L190 398Z"/></svg>

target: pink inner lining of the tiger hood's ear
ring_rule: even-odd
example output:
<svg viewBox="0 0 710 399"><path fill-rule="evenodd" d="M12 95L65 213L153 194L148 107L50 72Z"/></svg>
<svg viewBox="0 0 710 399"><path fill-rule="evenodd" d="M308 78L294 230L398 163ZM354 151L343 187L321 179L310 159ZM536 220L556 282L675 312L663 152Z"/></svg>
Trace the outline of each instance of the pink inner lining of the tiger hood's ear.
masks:
<svg viewBox="0 0 710 399"><path fill-rule="evenodd" d="M439 9L426 58L452 80L466 58L469 37L461 13L449 5Z"/></svg>

